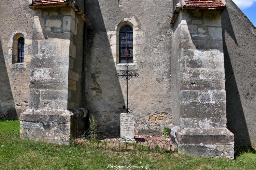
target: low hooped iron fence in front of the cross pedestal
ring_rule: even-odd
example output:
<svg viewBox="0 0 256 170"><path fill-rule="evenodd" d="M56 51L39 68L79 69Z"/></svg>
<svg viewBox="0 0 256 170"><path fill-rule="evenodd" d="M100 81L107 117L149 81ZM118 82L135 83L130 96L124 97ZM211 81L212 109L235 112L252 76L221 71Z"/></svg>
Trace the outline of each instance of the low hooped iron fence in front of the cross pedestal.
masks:
<svg viewBox="0 0 256 170"><path fill-rule="evenodd" d="M104 150L140 150L156 152L177 152L177 141L167 139L146 139L146 138L120 138L108 136L73 136L71 143L75 147L96 148Z"/></svg>

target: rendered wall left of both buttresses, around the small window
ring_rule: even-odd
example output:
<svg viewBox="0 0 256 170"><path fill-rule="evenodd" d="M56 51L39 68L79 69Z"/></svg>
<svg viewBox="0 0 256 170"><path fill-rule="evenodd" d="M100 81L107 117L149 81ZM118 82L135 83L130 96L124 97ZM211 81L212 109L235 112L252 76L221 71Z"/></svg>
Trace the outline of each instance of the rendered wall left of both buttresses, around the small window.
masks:
<svg viewBox="0 0 256 170"><path fill-rule="evenodd" d="M28 7L28 0L1 0L0 11L0 117L17 118L28 108L34 12ZM11 62L10 40L15 32L26 36L23 66Z"/></svg>

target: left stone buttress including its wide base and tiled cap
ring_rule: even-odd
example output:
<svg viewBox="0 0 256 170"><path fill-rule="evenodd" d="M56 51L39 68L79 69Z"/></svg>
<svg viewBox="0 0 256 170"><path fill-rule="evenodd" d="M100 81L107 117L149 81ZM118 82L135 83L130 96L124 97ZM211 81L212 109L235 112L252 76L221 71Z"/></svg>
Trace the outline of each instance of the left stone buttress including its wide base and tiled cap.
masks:
<svg viewBox="0 0 256 170"><path fill-rule="evenodd" d="M46 1L47 2L47 1ZM33 4L35 11L29 109L20 116L20 137L68 144L82 135L87 110L82 102L83 25L74 2Z"/></svg>

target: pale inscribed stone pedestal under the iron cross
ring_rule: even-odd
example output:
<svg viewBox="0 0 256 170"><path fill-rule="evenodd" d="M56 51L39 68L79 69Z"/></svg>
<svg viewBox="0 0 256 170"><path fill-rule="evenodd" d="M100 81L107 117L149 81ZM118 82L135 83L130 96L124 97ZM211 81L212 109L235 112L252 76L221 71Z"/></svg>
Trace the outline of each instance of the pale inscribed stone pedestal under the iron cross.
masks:
<svg viewBox="0 0 256 170"><path fill-rule="evenodd" d="M135 141L134 139L134 114L120 114L120 137L126 138L126 141ZM125 140L121 140L125 141Z"/></svg>

